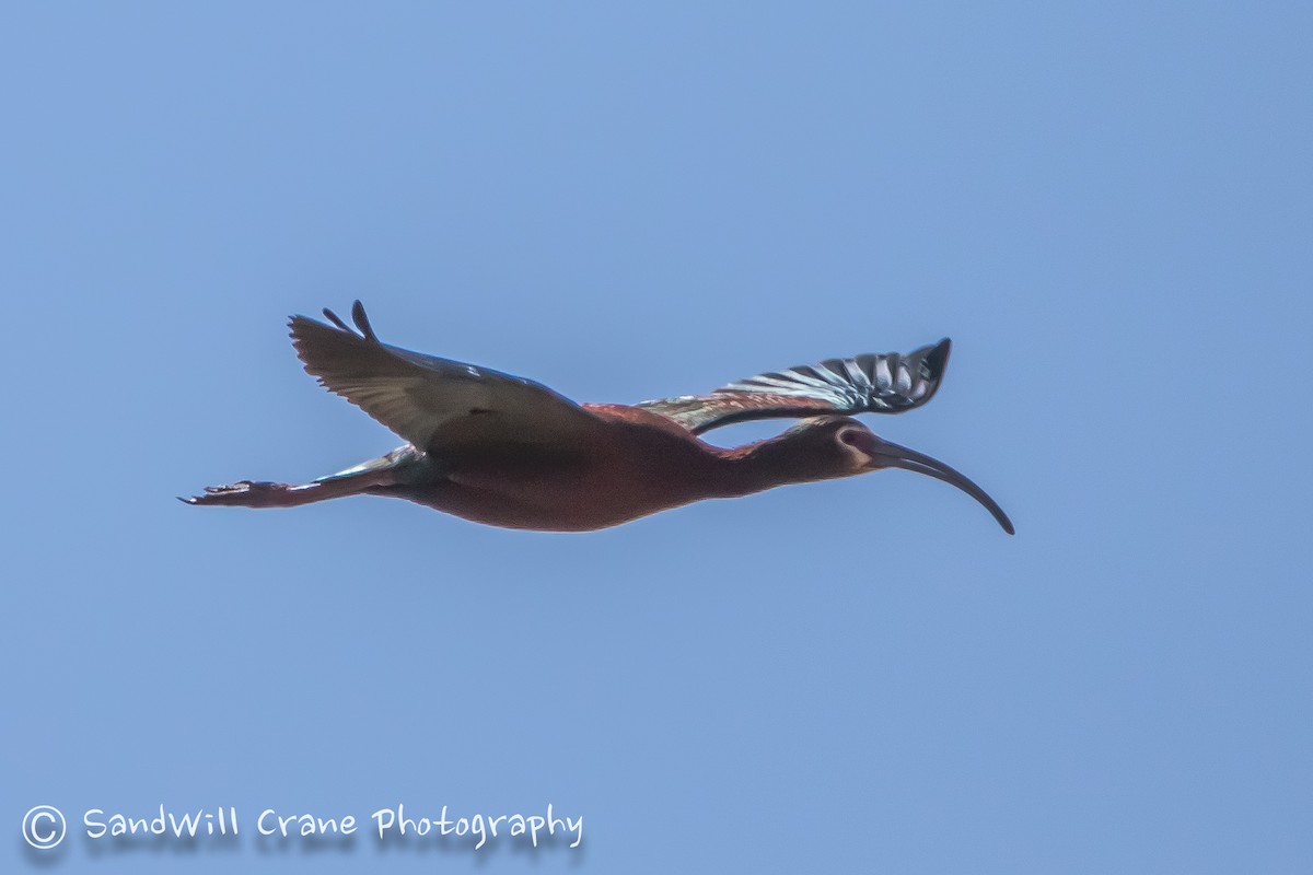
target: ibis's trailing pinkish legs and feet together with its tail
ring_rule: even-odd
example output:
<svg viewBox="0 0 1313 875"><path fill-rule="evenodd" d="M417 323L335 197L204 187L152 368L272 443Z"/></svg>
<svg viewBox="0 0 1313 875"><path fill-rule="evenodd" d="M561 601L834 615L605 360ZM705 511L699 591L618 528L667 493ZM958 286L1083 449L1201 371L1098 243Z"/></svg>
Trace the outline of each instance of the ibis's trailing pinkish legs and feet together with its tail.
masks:
<svg viewBox="0 0 1313 875"><path fill-rule="evenodd" d="M299 485L239 480L225 487L206 487L202 495L179 500L185 504L226 508L295 508L360 495L377 487L411 484L429 475L431 468L428 455L407 443L387 455Z"/></svg>

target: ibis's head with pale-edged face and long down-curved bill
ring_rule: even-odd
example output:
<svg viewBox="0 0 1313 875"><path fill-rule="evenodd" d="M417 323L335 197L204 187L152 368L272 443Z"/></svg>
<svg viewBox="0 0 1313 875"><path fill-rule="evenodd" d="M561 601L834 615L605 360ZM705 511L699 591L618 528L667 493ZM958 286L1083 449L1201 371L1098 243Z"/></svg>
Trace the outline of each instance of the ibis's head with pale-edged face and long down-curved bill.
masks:
<svg viewBox="0 0 1313 875"><path fill-rule="evenodd" d="M865 425L847 416L818 416L804 420L786 432L783 443L792 445L796 458L806 458L813 474L806 479L843 478L885 468L903 468L951 483L972 496L1007 534L1015 534L1012 521L983 489L964 474L905 446L890 443Z"/></svg>

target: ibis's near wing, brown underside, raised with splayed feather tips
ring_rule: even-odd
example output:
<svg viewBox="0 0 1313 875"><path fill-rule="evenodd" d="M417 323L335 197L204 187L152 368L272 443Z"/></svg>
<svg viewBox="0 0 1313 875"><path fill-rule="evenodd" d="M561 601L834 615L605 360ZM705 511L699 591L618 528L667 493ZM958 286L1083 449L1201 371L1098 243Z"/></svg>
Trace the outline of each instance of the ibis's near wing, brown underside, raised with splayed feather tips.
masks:
<svg viewBox="0 0 1313 875"><path fill-rule="evenodd" d="M600 420L546 386L379 342L357 300L356 331L330 310L326 325L293 316L291 342L319 383L419 449L570 447Z"/></svg>

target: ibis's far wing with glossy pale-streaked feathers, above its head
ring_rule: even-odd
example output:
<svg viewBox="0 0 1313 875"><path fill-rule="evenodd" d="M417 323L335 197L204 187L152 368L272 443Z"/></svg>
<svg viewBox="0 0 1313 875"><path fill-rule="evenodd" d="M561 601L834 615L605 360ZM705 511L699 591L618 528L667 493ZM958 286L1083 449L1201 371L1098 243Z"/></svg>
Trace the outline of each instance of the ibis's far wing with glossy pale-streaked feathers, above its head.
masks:
<svg viewBox="0 0 1313 875"><path fill-rule="evenodd" d="M939 388L949 341L907 353L829 358L786 371L759 374L710 395L683 395L638 407L701 434L730 422L822 413L902 413L920 407Z"/></svg>

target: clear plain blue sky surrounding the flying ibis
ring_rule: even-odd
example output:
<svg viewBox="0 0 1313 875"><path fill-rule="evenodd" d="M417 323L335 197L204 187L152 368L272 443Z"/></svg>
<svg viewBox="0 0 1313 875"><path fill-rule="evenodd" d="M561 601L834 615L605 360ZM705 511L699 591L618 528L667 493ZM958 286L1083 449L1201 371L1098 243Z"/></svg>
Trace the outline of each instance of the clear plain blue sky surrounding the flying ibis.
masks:
<svg viewBox="0 0 1313 875"><path fill-rule="evenodd" d="M9 5L5 868L1308 871L1310 25ZM583 401L951 336L871 425L1018 535L905 472L587 535L173 501L395 446L285 336L355 298ZM251 834L548 803L580 849ZM81 834L160 804L242 840Z"/></svg>

